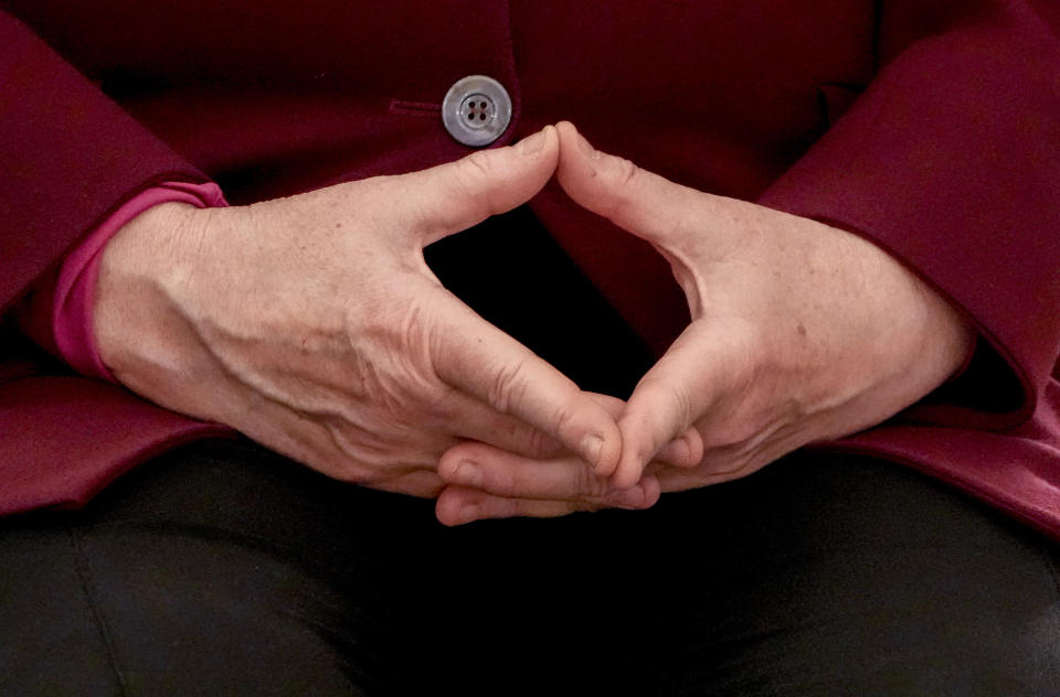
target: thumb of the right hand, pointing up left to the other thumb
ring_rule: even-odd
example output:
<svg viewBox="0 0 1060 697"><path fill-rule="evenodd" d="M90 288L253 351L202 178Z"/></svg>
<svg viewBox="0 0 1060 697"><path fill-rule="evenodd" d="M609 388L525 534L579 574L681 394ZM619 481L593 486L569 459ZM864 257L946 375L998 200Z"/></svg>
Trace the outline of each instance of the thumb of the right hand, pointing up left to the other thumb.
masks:
<svg viewBox="0 0 1060 697"><path fill-rule="evenodd" d="M556 175L579 205L642 237L666 254L691 226L681 222L702 206L702 193L594 149L574 125L556 126Z"/></svg>

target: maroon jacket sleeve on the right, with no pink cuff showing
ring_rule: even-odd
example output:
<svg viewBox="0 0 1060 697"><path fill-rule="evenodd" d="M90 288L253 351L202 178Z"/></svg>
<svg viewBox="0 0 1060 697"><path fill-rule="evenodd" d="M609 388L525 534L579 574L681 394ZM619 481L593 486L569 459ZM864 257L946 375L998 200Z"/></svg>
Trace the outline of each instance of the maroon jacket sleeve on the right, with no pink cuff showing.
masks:
<svg viewBox="0 0 1060 697"><path fill-rule="evenodd" d="M999 412L961 420L1013 426L1060 347L1060 11L881 7L877 77L760 203L863 235L963 309L969 399Z"/></svg>

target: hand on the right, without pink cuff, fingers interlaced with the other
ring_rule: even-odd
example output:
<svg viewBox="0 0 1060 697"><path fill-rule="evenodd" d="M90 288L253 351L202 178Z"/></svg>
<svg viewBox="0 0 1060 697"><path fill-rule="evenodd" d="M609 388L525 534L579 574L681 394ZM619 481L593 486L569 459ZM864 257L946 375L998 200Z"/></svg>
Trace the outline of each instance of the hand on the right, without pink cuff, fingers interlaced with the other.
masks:
<svg viewBox="0 0 1060 697"><path fill-rule="evenodd" d="M647 472L662 491L738 479L812 441L880 423L957 369L974 332L956 309L873 244L816 221L675 184L594 150L561 124L558 175L579 204L655 246L670 262L691 324L644 376L618 421L618 490ZM692 468L649 462L686 429ZM478 443L490 476L542 463ZM687 462L683 464L688 464ZM439 518L559 515L584 507L586 465L545 468L552 501L490 489L443 467ZM581 502L581 503L580 503Z"/></svg>

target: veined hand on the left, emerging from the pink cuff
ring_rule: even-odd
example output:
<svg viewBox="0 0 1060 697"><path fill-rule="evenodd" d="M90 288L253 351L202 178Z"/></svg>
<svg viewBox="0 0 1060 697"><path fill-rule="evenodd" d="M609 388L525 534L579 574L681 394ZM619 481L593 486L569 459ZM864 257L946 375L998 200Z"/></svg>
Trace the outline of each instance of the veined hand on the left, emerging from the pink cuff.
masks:
<svg viewBox="0 0 1060 697"><path fill-rule="evenodd" d="M447 292L423 247L533 196L554 128L402 176L247 207L157 206L108 244L95 331L148 399L331 476L421 496L465 439L614 470L592 397ZM585 467L583 464L583 467Z"/></svg>

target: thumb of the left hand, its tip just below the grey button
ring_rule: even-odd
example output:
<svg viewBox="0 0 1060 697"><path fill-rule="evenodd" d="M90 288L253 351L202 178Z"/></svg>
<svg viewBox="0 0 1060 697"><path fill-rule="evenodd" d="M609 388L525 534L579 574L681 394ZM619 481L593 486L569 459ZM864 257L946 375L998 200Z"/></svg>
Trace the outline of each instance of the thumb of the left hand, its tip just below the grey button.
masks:
<svg viewBox="0 0 1060 697"><path fill-rule="evenodd" d="M552 178L558 160L555 128L545 126L515 146L395 176L390 185L426 246L526 203Z"/></svg>

